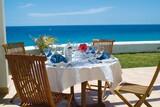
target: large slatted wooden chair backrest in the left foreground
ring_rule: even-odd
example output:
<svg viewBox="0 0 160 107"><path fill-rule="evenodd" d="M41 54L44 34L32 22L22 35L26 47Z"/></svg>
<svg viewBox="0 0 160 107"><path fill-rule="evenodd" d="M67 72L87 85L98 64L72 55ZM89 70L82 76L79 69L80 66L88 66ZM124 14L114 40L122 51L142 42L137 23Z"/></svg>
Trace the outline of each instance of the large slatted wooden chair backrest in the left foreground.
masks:
<svg viewBox="0 0 160 107"><path fill-rule="evenodd" d="M44 56L6 55L18 95L24 105L55 107Z"/></svg>

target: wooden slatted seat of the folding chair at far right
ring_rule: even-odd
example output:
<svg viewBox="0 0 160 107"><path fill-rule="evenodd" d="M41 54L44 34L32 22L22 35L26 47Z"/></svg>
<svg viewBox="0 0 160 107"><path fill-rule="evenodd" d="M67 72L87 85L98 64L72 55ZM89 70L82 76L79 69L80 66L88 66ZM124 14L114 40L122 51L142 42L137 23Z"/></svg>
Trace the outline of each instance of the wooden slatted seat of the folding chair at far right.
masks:
<svg viewBox="0 0 160 107"><path fill-rule="evenodd" d="M120 92L124 92L124 93L144 95L147 89L148 89L148 86L142 86L142 85L132 84L132 83L122 83L118 87L116 87L115 90L119 90ZM150 90L147 96L150 95L151 91L152 90Z"/></svg>

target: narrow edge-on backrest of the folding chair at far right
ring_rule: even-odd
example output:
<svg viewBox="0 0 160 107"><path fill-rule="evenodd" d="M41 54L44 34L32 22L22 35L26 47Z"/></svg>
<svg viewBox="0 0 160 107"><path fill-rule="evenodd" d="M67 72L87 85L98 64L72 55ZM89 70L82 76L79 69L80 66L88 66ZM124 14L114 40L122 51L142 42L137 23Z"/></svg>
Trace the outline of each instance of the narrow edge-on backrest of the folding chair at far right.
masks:
<svg viewBox="0 0 160 107"><path fill-rule="evenodd" d="M151 89L153 88L153 85L154 85L154 83L155 83L155 81L156 81L156 79L158 77L159 72L160 72L160 61L159 61L158 65L157 65L157 68L156 68L156 71L155 71L155 73L153 75L153 78L152 78L152 80L151 80L151 82L150 82L150 84L148 86L146 94L148 94L149 92L151 92Z"/></svg>

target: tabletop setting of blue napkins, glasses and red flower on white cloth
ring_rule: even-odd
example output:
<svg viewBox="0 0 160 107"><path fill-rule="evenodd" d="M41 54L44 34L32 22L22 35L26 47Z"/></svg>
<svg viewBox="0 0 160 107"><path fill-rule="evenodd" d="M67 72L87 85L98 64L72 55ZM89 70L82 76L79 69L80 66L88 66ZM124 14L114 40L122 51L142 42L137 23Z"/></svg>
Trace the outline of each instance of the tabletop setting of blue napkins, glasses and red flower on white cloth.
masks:
<svg viewBox="0 0 160 107"><path fill-rule="evenodd" d="M89 66L117 60L107 51L98 51L94 46L87 46L87 44L79 44L75 47L67 44L64 47L64 52L53 52L48 48L44 50L44 53L48 59L46 64L54 67Z"/></svg>

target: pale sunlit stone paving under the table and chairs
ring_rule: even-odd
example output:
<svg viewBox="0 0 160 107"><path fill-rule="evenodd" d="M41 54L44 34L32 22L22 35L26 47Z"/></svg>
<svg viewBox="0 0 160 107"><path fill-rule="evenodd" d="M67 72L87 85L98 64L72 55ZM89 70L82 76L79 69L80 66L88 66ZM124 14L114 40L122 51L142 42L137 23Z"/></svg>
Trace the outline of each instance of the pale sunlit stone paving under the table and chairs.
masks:
<svg viewBox="0 0 160 107"><path fill-rule="evenodd" d="M136 84L142 84L142 85L148 85L151 81L151 78L155 72L156 67L145 67L145 68L130 68L130 69L123 69L123 81L136 83ZM92 81L95 83L96 81ZM15 93L15 89L13 87L12 81L10 81L10 93L5 96L0 96L0 107L19 107L19 100L16 99L14 101L14 104L9 103L10 98ZM76 99L76 105L80 103L80 84L75 86L75 99ZM66 89L64 92L69 92L69 89ZM96 92L88 92L87 93L87 102L89 102L89 107L127 107L116 95L112 95L109 91L107 91L107 99L104 100L104 104L102 106L97 106L97 96ZM124 96L132 103L134 104L137 101L137 97L135 97L132 94L124 94ZM151 93L151 96L148 98L149 103L153 107L160 107L160 74L156 80L156 83L154 84L153 91ZM74 107L76 107L74 104ZM59 107L63 107L63 104L60 104ZM142 105L142 107L146 107L145 105Z"/></svg>

